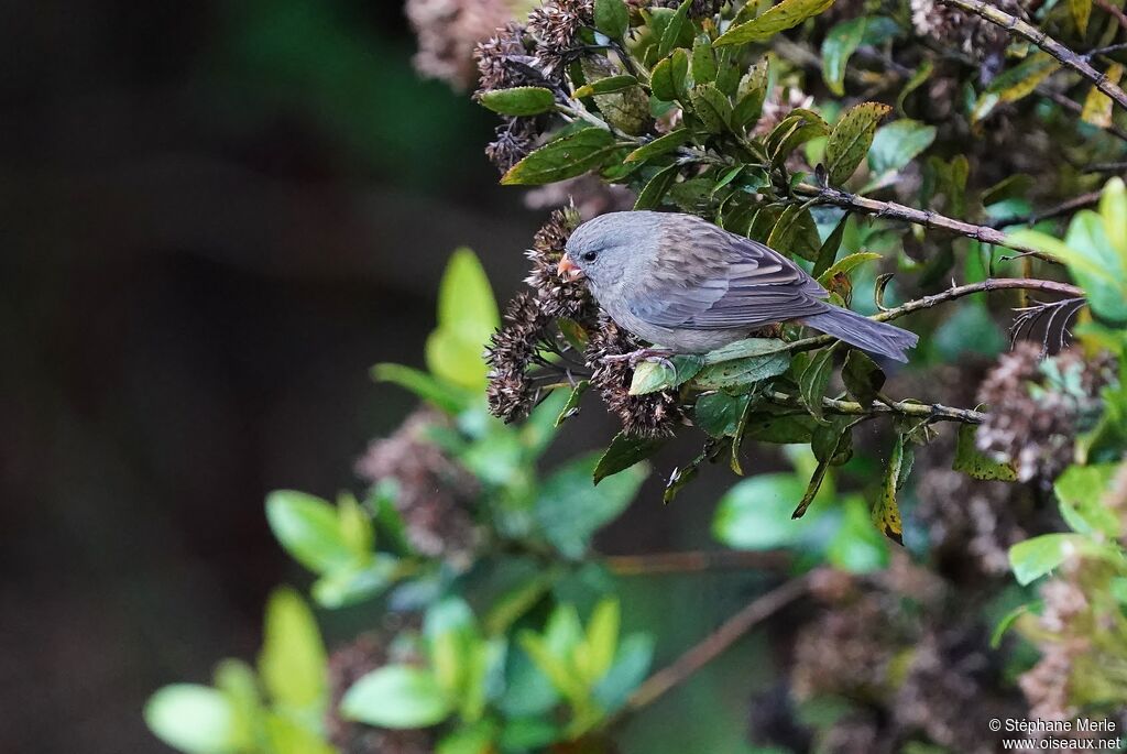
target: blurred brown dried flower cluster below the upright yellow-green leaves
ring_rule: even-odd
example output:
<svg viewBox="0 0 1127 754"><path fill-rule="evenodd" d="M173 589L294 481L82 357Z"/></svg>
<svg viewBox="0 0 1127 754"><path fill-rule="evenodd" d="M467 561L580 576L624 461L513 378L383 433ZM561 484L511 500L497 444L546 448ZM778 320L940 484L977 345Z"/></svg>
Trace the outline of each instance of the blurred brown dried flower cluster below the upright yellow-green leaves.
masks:
<svg viewBox="0 0 1127 754"><path fill-rule="evenodd" d="M478 540L471 514L478 484L427 438L446 422L435 411L416 411L390 437L369 446L356 472L372 484L394 482L396 508L420 555L463 564Z"/></svg>

